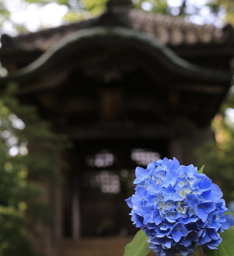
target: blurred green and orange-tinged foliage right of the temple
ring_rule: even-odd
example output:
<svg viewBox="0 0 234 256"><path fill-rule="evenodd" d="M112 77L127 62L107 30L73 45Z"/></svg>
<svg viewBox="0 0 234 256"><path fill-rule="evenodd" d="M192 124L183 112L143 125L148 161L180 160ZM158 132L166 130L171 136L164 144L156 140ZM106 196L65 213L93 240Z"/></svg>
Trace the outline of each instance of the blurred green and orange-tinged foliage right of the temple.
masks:
<svg viewBox="0 0 234 256"><path fill-rule="evenodd" d="M196 150L198 166L205 165L204 173L220 186L226 203L234 200L234 123L227 115L229 108L234 108L232 89L211 123L215 141Z"/></svg>

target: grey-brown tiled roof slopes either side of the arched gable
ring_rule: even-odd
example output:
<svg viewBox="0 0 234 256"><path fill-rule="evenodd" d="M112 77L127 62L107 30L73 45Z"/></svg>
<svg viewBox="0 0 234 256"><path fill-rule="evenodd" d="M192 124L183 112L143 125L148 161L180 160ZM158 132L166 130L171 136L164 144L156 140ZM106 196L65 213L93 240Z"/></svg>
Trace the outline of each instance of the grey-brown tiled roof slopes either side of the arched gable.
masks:
<svg viewBox="0 0 234 256"><path fill-rule="evenodd" d="M233 43L234 31L230 25L217 28L213 25L197 25L185 22L178 17L163 14L153 14L135 9L126 10L123 14L133 29L144 32L146 35L157 38L164 45L195 45L195 44L222 44ZM25 51L46 51L58 40L87 26L93 26L98 20L89 19L57 28L42 30L35 33L9 37L2 35L2 50L4 48L22 49Z"/></svg>

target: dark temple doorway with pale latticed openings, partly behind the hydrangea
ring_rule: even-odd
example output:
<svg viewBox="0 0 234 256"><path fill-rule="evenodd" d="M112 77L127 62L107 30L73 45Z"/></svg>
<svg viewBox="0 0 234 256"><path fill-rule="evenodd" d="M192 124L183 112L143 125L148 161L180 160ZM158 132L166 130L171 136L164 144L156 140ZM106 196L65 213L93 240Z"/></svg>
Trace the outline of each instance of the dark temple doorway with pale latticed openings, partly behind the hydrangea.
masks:
<svg viewBox="0 0 234 256"><path fill-rule="evenodd" d="M64 237L136 233L125 199L134 193L135 168L168 155L166 139L75 141L64 204ZM76 198L74 201L74 197ZM78 207L78 209L77 209ZM77 230L79 229L79 230Z"/></svg>

